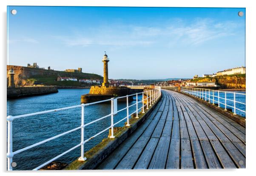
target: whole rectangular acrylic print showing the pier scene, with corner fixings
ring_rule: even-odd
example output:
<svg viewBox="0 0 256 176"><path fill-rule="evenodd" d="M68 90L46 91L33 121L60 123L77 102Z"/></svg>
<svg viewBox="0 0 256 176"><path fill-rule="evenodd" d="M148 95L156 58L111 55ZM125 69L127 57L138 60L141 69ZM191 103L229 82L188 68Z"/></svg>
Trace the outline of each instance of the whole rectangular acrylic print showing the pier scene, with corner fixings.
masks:
<svg viewBox="0 0 256 176"><path fill-rule="evenodd" d="M245 16L8 6L7 169L245 168Z"/></svg>

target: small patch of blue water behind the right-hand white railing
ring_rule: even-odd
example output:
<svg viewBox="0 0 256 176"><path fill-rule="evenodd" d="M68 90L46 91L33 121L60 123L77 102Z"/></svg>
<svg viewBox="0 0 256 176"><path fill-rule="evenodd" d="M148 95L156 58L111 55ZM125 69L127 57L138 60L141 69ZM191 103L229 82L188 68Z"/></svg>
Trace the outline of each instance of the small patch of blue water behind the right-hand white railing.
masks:
<svg viewBox="0 0 256 176"><path fill-rule="evenodd" d="M232 112L234 113L234 108L233 108L234 107L234 102L233 102L234 93L233 92L245 93L245 91L232 91L232 92L227 91L226 92L226 98L227 98L226 108L232 109ZM197 93L196 93L196 96L197 96ZM199 94L199 96L200 96L200 94ZM206 101L209 101L209 92L208 91L206 91L206 95L205 95L205 91L203 92L203 94L201 91L201 98L202 98L202 96L203 96L203 99L205 99L205 96L206 96ZM246 111L246 105L242 104L242 103L246 102L246 96L241 95L241 94L236 94L235 96L236 96L236 104L235 104L236 105L236 114L241 115L242 117L246 117L246 113L241 111L241 110ZM220 107L225 109L225 92L219 92L219 97L220 98L218 99L218 92L214 91L214 103L216 105L219 104ZM210 91L210 102L213 103L213 92L212 91ZM242 103L239 103L239 102L242 102Z"/></svg>

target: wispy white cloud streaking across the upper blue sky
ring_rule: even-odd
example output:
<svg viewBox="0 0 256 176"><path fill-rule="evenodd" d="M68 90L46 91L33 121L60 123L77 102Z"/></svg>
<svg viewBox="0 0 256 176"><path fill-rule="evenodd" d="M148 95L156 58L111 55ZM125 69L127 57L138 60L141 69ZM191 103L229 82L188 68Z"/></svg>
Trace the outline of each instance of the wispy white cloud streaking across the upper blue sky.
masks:
<svg viewBox="0 0 256 176"><path fill-rule="evenodd" d="M187 23L187 24L186 24ZM110 45L113 47L150 46L167 42L172 45L200 45L215 38L234 35L234 22L215 22L212 19L194 19L185 22L175 19L162 27L117 25L86 30L73 36L55 36L69 47L90 45ZM85 30L80 30L85 31Z"/></svg>

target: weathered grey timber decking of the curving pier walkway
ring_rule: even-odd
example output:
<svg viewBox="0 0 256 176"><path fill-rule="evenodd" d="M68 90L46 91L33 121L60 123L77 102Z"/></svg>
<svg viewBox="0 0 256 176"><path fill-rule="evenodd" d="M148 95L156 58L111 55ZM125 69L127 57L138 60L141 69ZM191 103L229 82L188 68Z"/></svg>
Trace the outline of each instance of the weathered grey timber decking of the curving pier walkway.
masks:
<svg viewBox="0 0 256 176"><path fill-rule="evenodd" d="M162 90L156 108L97 169L245 168L245 128Z"/></svg>

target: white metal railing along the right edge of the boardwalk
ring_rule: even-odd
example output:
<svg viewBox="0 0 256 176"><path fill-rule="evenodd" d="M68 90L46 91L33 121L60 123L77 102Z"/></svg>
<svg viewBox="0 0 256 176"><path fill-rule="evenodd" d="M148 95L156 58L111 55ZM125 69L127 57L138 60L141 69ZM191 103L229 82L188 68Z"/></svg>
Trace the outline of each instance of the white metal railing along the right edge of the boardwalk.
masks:
<svg viewBox="0 0 256 176"><path fill-rule="evenodd" d="M193 88L193 87L181 87L180 91L182 93L187 93L189 95L195 96L199 99L204 99L205 101L208 101L212 104L218 104L218 107L220 105L223 105L224 109L227 110L227 107L233 108L234 112L233 114L236 115L237 111L241 111L242 113L246 114L245 110L239 109L237 106L238 104L246 105L245 102L239 102L236 100L236 97L238 95L244 96L245 93L237 93L237 92L229 92L229 91L218 91L218 90L212 90L212 89L205 89L205 88ZM227 95L233 96L233 99L228 99ZM223 100L223 101L221 101ZM232 102L231 105L228 102ZM233 106L232 106L233 104Z"/></svg>

